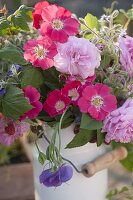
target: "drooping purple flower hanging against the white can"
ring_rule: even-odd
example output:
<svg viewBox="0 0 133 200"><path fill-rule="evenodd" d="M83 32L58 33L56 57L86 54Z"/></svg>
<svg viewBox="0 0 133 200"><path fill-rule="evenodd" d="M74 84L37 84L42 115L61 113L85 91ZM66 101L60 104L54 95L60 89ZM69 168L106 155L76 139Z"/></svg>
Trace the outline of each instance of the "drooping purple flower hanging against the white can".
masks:
<svg viewBox="0 0 133 200"><path fill-rule="evenodd" d="M40 183L46 187L58 187L62 183L69 181L73 176L73 169L69 165L63 164L56 172L47 169L40 175Z"/></svg>

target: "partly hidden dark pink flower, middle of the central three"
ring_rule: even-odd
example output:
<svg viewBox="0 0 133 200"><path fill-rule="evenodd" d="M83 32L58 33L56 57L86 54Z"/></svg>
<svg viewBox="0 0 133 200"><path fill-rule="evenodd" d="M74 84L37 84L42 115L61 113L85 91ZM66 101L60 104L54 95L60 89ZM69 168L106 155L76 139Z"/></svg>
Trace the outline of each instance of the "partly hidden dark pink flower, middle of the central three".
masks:
<svg viewBox="0 0 133 200"><path fill-rule="evenodd" d="M67 83L62 89L62 94L71 98L74 106L77 105L80 97L80 87L82 86L80 81L71 81Z"/></svg>

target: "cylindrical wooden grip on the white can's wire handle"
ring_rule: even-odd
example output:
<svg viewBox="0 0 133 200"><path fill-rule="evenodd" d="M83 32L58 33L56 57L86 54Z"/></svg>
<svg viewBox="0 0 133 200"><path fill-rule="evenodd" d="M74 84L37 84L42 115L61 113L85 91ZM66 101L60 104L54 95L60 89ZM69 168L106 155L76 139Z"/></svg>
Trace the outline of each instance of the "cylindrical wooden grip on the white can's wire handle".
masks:
<svg viewBox="0 0 133 200"><path fill-rule="evenodd" d="M86 163L82 166L82 173L86 177L91 177L98 171L108 168L114 162L123 160L127 157L127 149L125 147L119 147L113 151L110 151L98 158L94 161Z"/></svg>

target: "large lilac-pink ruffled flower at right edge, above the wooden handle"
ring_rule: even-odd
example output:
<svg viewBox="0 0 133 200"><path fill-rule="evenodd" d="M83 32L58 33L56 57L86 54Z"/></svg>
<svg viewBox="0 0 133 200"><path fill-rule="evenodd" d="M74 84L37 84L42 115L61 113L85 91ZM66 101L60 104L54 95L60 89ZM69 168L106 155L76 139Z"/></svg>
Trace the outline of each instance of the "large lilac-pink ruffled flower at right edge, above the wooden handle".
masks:
<svg viewBox="0 0 133 200"><path fill-rule="evenodd" d="M107 132L105 140L121 143L133 141L133 99L129 98L118 109L112 111L104 120L102 132Z"/></svg>

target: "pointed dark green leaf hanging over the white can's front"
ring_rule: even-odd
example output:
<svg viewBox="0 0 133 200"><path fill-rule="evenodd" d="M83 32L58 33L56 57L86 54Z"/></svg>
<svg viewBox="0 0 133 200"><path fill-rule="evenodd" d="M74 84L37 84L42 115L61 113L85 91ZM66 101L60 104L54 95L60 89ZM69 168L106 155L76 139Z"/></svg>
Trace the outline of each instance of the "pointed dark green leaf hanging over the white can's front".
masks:
<svg viewBox="0 0 133 200"><path fill-rule="evenodd" d="M86 129L80 129L80 132L75 135L73 140L66 146L66 148L75 148L87 144L95 136L96 131L88 131Z"/></svg>

